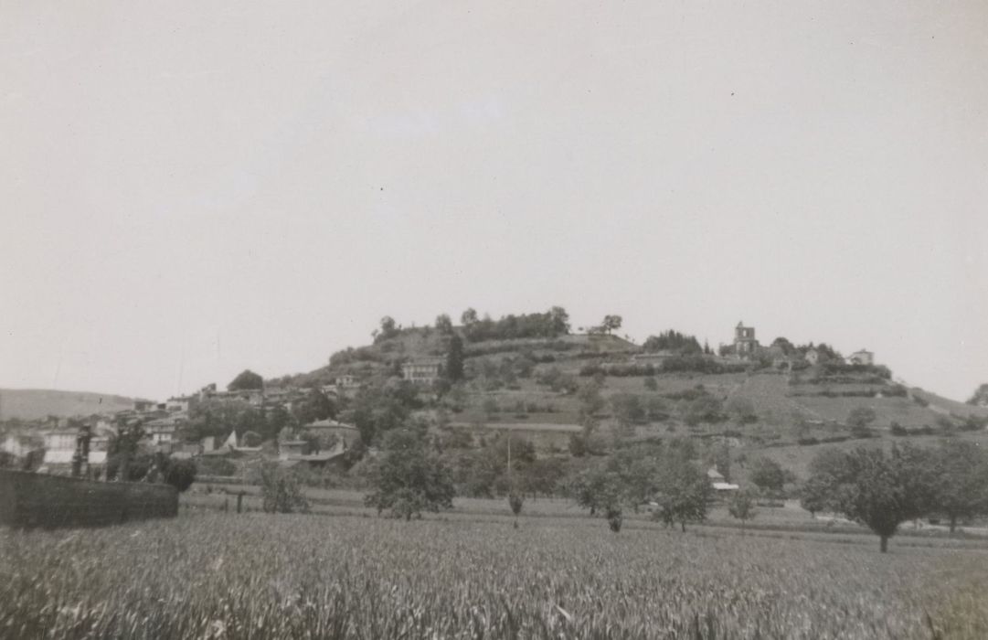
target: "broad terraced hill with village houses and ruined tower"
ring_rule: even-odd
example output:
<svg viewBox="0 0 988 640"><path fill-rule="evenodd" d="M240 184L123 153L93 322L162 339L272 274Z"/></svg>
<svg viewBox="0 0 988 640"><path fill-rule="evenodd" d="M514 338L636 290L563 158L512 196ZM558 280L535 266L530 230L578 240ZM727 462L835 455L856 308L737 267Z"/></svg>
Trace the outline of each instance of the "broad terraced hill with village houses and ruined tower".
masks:
<svg viewBox="0 0 988 640"><path fill-rule="evenodd" d="M460 320L402 328L385 317L373 344L309 373L245 370L225 389L109 415L7 420L0 455L6 466L96 478L116 478L124 450L193 460L201 477L246 478L276 461L316 484L361 486L381 437L411 426L453 459L467 495L499 491L503 464L485 455L506 440L529 463L533 491L553 493L566 465L634 442L691 440L715 481L743 477L745 460L765 452L795 481L818 443L983 430L988 420L983 408L893 381L867 350L764 345L743 322L714 351L677 331L636 345L616 335L619 316L572 331L559 307L496 321L470 309Z"/></svg>

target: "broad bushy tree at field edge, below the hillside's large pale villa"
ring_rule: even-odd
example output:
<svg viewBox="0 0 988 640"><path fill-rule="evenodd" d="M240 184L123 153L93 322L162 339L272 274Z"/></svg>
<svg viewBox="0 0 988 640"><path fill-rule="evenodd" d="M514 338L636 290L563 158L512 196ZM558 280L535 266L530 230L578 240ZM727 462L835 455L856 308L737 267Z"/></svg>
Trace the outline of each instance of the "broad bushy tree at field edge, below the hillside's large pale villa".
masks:
<svg viewBox="0 0 988 640"><path fill-rule="evenodd" d="M384 439L384 454L371 472L373 491L364 502L394 518L421 518L423 511L453 508L453 478L446 464L431 454L421 435L395 430Z"/></svg>

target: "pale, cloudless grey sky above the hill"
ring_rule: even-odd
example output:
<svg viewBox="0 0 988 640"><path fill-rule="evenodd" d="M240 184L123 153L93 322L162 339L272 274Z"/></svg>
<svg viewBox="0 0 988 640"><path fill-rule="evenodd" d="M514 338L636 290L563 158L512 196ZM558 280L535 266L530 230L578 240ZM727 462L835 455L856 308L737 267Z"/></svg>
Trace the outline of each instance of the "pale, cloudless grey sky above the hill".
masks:
<svg viewBox="0 0 988 640"><path fill-rule="evenodd" d="M988 381L988 4L0 4L0 387L562 305Z"/></svg>

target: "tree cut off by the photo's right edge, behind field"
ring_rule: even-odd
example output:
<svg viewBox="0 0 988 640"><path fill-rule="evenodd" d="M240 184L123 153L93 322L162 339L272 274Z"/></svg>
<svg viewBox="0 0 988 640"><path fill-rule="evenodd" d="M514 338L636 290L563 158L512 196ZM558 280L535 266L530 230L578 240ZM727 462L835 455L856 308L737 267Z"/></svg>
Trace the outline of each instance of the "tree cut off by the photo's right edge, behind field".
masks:
<svg viewBox="0 0 988 640"><path fill-rule="evenodd" d="M988 458L970 440L944 440L934 454L934 509L957 520L988 514Z"/></svg>

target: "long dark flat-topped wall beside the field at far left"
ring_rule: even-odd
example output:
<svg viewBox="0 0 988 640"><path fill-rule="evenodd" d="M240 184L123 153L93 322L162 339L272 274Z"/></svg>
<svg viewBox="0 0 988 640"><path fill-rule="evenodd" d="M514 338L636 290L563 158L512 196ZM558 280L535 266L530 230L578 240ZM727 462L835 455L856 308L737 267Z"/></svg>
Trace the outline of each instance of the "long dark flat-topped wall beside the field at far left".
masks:
<svg viewBox="0 0 988 640"><path fill-rule="evenodd" d="M178 491L171 485L93 482L0 469L0 524L101 526L174 518L178 511Z"/></svg>

